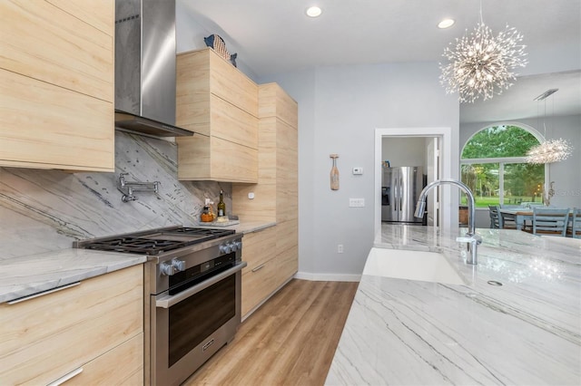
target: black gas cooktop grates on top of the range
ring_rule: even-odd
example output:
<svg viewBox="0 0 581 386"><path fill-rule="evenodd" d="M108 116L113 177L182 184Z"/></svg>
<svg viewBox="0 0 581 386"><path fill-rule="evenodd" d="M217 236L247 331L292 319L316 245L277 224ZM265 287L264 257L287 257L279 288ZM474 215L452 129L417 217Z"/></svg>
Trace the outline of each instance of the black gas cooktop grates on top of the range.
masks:
<svg viewBox="0 0 581 386"><path fill-rule="evenodd" d="M155 256L185 246L234 234L233 229L164 227L147 231L75 241L76 248Z"/></svg>

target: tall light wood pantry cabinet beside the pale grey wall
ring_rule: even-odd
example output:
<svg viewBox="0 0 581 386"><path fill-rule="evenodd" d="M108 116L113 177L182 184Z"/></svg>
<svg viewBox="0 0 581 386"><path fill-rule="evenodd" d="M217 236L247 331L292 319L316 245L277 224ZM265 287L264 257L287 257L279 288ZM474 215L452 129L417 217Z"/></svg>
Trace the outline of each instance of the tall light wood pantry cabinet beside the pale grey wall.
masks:
<svg viewBox="0 0 581 386"><path fill-rule="evenodd" d="M232 211L240 216L241 221L276 222L267 234L271 237L269 248L248 251L247 236L252 234L244 236L242 258L247 261L268 260L270 267L266 265L263 269L270 272L269 280L273 281L261 284L262 287L252 294L242 291L242 302L245 296L251 296L251 309L289 281L299 265L297 102L278 84L261 84L259 118L258 183L232 185ZM250 192L254 193L253 199L248 198Z"/></svg>

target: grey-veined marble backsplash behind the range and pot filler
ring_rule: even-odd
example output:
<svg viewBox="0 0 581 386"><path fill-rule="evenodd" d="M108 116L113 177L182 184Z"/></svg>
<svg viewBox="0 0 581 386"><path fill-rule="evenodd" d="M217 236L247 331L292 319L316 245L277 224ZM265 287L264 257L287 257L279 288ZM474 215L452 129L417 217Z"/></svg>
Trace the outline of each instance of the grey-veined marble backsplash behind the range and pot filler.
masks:
<svg viewBox="0 0 581 386"><path fill-rule="evenodd" d="M124 203L122 172L127 181L160 181L159 195L136 192L139 199ZM114 173L0 168L0 259L70 248L76 239L195 226L204 198L217 203L220 189L230 212L231 183L177 179L175 143L115 131Z"/></svg>

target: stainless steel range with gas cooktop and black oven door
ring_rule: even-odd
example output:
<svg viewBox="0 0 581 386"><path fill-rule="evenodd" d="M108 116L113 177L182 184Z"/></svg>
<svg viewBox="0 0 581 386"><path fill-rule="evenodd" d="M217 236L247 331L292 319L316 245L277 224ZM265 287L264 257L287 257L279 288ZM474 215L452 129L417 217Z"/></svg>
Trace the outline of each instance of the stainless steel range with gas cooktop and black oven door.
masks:
<svg viewBox="0 0 581 386"><path fill-rule="evenodd" d="M233 339L246 266L241 238L222 229L170 227L76 243L120 252L131 246L149 256L145 384L180 384Z"/></svg>

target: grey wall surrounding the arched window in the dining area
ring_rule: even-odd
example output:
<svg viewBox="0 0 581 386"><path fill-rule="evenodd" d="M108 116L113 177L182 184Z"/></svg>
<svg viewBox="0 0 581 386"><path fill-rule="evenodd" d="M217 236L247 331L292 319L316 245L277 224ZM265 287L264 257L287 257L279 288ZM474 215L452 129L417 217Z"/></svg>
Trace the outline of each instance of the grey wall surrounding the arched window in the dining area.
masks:
<svg viewBox="0 0 581 386"><path fill-rule="evenodd" d="M542 120L513 122L482 122L460 127L460 151L478 130L497 124L523 124L545 135ZM551 205L556 207L581 207L581 115L552 117L547 121L547 139L562 138L574 148L566 160L548 165L548 181L555 181L555 197Z"/></svg>

